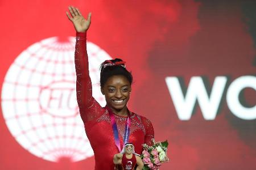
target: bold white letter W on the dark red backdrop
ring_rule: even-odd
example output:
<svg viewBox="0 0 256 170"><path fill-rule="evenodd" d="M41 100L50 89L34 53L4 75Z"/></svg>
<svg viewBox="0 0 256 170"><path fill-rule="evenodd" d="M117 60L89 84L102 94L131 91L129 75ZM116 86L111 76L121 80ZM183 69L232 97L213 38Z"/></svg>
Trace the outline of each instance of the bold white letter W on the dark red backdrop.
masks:
<svg viewBox="0 0 256 170"><path fill-rule="evenodd" d="M226 81L227 78L225 76L217 76L214 79L212 91L208 96L203 79L200 76L193 76L189 82L187 93L184 97L179 79L176 76L167 77L166 84L179 119L189 120L191 118L197 100L204 119L214 120L220 105Z"/></svg>

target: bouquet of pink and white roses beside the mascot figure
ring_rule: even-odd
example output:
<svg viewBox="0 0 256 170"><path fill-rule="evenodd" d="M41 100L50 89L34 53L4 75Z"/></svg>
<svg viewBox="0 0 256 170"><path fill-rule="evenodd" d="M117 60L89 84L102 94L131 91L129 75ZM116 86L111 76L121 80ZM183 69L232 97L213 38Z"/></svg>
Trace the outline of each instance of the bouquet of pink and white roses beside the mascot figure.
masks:
<svg viewBox="0 0 256 170"><path fill-rule="evenodd" d="M168 142L155 142L154 139L152 139L152 142L152 146L143 144L144 150L141 155L141 159L144 163L143 170L158 169L162 163L169 161L167 157Z"/></svg>

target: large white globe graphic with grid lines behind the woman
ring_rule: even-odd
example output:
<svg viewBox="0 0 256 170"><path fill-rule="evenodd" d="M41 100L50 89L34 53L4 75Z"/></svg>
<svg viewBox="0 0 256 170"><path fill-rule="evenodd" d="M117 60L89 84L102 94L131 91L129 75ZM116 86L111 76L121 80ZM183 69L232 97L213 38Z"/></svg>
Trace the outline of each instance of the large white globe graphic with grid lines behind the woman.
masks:
<svg viewBox="0 0 256 170"><path fill-rule="evenodd" d="M87 42L93 96L100 93L99 66L111 57ZM16 141L39 158L77 162L93 156L76 101L75 37L51 37L29 46L10 66L2 87L2 112Z"/></svg>

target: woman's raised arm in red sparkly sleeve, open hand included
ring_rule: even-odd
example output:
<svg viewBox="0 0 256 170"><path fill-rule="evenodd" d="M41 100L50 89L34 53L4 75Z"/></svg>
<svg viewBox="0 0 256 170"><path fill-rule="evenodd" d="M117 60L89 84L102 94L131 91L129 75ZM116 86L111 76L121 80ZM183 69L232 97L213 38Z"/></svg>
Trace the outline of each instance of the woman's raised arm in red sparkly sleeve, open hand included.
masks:
<svg viewBox="0 0 256 170"><path fill-rule="evenodd" d="M88 54L86 51L86 31L90 27L90 16L84 19L78 8L69 7L68 19L76 29L75 67L76 95L79 111L84 122L95 120L103 111L92 96L92 82L89 76Z"/></svg>

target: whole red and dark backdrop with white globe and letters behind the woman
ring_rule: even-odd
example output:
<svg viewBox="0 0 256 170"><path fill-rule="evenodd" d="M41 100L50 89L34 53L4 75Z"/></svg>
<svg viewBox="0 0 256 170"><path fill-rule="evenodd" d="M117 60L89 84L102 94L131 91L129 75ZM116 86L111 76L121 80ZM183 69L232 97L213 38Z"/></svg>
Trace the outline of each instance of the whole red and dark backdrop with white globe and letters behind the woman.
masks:
<svg viewBox="0 0 256 170"><path fill-rule="evenodd" d="M160 169L256 168L255 1L0 1L0 169L93 169L77 111L75 29L92 12L93 95L106 58L134 76L129 108L168 140ZM104 142L104 141L102 141Z"/></svg>

